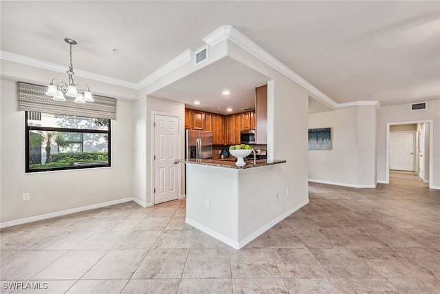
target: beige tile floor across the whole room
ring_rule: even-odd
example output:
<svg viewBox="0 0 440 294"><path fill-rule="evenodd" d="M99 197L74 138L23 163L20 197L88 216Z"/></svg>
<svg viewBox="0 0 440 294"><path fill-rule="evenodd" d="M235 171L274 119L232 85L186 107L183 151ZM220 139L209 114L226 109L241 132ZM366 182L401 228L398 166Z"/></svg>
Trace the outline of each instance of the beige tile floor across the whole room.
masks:
<svg viewBox="0 0 440 294"><path fill-rule="evenodd" d="M5 228L1 293L439 293L427 186L410 172L376 189L311 183L309 204L241 250L185 224L184 200Z"/></svg>

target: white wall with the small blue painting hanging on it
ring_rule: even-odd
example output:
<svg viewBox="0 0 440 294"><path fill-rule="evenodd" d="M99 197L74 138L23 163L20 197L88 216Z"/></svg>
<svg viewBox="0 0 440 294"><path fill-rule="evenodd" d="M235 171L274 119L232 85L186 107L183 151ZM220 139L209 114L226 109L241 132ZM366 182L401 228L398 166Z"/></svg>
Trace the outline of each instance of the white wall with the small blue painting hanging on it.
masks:
<svg viewBox="0 0 440 294"><path fill-rule="evenodd" d="M309 129L331 127L331 150L309 150L309 180L374 187L376 108L357 105L309 114Z"/></svg>

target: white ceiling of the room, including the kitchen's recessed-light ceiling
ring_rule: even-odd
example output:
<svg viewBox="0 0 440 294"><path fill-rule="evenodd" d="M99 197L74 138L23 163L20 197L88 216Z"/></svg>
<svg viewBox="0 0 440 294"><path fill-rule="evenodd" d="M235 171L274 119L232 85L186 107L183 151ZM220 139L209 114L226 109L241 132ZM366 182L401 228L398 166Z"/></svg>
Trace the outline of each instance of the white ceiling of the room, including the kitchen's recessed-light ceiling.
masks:
<svg viewBox="0 0 440 294"><path fill-rule="evenodd" d="M440 98L440 1L1 1L0 5L2 51L67 67L69 47L63 39L68 37L78 41L75 69L131 83L139 83L188 48L200 48L202 39L221 25L232 25L336 103L391 105ZM200 107L210 111L245 107L253 87L264 79L225 59L155 96L188 105L205 99ZM230 101L219 94L223 87L234 93Z"/></svg>

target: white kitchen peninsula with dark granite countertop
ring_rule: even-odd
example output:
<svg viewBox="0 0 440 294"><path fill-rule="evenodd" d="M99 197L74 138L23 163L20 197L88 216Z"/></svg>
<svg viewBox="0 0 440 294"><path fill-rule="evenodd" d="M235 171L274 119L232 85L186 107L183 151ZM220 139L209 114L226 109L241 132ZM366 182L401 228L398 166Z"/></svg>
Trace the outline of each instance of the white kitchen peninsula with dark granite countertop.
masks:
<svg viewBox="0 0 440 294"><path fill-rule="evenodd" d="M278 197L285 160L182 160L186 163L186 223L240 249L298 208L283 209ZM301 205L302 206L302 205Z"/></svg>

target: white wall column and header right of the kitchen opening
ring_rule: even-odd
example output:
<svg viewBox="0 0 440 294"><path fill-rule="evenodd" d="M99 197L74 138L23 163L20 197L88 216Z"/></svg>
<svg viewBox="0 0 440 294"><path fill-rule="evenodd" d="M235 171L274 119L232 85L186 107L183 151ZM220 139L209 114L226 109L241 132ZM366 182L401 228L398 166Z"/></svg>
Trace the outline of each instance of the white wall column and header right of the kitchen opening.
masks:
<svg viewBox="0 0 440 294"><path fill-rule="evenodd" d="M234 43L228 43L228 56L270 77L267 83L267 156L287 161L279 167L280 190L272 193L285 198L283 209L289 211L309 198L307 109L310 93ZM290 191L288 196L286 188Z"/></svg>

